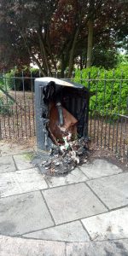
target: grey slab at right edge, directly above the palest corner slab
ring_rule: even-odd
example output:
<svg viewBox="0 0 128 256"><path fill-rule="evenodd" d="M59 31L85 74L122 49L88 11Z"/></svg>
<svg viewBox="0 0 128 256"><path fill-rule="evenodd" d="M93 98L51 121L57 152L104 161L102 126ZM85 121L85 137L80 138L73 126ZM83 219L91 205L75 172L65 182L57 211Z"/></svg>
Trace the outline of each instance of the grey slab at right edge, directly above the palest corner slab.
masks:
<svg viewBox="0 0 128 256"><path fill-rule="evenodd" d="M128 172L87 181L109 209L128 204Z"/></svg>

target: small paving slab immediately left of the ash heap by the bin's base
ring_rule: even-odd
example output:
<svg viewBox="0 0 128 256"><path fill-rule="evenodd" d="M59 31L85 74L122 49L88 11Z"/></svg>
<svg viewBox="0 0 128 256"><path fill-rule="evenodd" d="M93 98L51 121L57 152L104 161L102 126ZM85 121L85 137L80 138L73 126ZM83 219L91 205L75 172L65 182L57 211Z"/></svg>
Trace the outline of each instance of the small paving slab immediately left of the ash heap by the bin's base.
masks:
<svg viewBox="0 0 128 256"><path fill-rule="evenodd" d="M15 164L18 170L25 170L25 169L32 168L33 167L31 163L32 156L33 156L32 153L14 155Z"/></svg>

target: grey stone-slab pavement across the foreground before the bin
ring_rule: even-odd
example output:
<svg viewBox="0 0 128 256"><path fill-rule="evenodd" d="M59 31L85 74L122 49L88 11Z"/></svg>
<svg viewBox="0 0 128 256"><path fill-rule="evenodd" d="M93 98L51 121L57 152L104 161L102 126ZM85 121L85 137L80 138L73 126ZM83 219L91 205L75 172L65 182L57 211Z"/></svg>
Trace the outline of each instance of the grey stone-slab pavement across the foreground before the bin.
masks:
<svg viewBox="0 0 128 256"><path fill-rule="evenodd" d="M0 156L0 256L128 255L127 171L96 159L48 177L21 153Z"/></svg>

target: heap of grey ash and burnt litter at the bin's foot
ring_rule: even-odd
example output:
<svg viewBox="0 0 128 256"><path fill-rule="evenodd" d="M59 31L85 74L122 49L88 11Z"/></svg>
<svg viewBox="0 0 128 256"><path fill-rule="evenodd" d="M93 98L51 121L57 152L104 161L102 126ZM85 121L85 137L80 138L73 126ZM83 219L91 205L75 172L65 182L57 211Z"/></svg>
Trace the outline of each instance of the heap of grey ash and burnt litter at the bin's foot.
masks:
<svg viewBox="0 0 128 256"><path fill-rule="evenodd" d="M49 159L42 163L48 175L71 172L76 166L87 161L89 154L88 140L81 137L70 141L70 136L64 137L64 145L52 145Z"/></svg>

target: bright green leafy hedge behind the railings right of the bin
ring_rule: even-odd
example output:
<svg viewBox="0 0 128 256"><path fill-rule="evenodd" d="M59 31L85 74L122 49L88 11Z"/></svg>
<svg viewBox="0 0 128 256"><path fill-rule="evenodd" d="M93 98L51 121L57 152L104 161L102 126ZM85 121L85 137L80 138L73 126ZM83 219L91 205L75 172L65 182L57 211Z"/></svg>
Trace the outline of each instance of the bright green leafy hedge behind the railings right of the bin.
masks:
<svg viewBox="0 0 128 256"><path fill-rule="evenodd" d="M97 67L86 68L82 72L76 70L75 82L82 83L90 89L92 113L128 113L127 65L108 71Z"/></svg>

